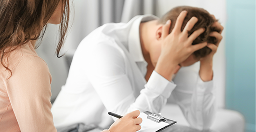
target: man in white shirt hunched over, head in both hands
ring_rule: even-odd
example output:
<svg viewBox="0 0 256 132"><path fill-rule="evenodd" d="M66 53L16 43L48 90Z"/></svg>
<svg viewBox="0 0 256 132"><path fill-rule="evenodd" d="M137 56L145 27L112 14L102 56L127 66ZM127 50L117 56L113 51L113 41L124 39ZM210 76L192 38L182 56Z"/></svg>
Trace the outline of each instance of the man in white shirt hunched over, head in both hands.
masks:
<svg viewBox="0 0 256 132"><path fill-rule="evenodd" d="M172 95L192 127L209 129L215 112L212 57L222 29L207 11L189 6L174 8L161 19L143 15L97 28L74 54L52 107L55 126L82 122L107 127L115 119L108 111L159 113ZM178 72L197 61L199 73Z"/></svg>

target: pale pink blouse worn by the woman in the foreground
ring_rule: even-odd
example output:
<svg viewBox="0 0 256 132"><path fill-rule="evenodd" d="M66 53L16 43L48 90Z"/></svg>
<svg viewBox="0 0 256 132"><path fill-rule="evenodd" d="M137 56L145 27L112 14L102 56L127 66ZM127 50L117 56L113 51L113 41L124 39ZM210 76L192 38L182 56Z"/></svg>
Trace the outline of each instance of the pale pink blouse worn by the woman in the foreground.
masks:
<svg viewBox="0 0 256 132"><path fill-rule="evenodd" d="M11 51L8 68L12 75L0 65L0 131L57 132L51 113L52 77L32 44Z"/></svg>

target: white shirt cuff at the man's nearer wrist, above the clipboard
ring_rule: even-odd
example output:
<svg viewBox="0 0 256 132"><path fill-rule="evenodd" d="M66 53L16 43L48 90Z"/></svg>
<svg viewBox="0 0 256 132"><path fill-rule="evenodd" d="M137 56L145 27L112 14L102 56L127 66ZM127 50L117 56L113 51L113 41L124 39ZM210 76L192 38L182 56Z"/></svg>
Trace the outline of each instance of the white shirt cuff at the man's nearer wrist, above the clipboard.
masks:
<svg viewBox="0 0 256 132"><path fill-rule="evenodd" d="M152 72L146 85L150 91L154 92L155 94L162 95L165 98L169 98L172 91L176 87L176 84L174 84L174 82L169 82L167 79L162 77L162 75L158 74L155 70Z"/></svg>

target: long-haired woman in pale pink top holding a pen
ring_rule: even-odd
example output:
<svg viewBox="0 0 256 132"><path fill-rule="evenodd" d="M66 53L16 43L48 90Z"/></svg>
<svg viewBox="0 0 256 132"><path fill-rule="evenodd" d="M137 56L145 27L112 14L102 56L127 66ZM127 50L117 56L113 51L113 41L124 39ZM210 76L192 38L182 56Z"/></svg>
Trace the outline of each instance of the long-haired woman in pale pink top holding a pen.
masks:
<svg viewBox="0 0 256 132"><path fill-rule="evenodd" d="M69 19L68 0L0 0L0 131L56 132L51 109L51 75L35 42L47 24L60 24L57 57ZM106 132L139 130L139 111Z"/></svg>

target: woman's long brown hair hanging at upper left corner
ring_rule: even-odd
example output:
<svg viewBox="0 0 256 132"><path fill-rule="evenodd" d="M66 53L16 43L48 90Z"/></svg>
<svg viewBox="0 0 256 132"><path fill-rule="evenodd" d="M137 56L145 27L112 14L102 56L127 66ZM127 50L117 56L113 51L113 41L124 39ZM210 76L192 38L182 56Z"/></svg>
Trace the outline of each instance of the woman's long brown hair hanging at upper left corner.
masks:
<svg viewBox="0 0 256 132"><path fill-rule="evenodd" d="M53 15L59 3L62 2L62 20L60 24L60 41L56 54L59 56L61 47L65 41L68 19L69 0L0 0L0 62L4 63L7 52L27 44L30 40L43 37L43 28L46 28L48 20ZM10 50L11 49L11 50Z"/></svg>

